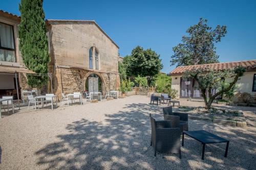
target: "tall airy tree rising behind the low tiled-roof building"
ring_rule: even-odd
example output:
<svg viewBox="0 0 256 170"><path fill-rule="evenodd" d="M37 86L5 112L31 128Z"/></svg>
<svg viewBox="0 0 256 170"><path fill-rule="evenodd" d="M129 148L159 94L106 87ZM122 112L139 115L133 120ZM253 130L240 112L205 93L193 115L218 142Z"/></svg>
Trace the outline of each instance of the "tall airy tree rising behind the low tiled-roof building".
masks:
<svg viewBox="0 0 256 170"><path fill-rule="evenodd" d="M189 36L182 37L182 43L173 47L174 55L170 65L197 65L219 62L215 43L221 41L227 33L226 26L217 26L214 30L207 25L207 19L200 18L197 25L186 31Z"/></svg>

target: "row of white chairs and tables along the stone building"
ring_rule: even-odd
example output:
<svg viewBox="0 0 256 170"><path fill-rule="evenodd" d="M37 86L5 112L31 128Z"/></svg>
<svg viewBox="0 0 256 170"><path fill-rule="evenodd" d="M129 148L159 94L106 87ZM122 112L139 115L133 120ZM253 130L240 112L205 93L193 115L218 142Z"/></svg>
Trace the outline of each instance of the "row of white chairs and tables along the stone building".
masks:
<svg viewBox="0 0 256 170"><path fill-rule="evenodd" d="M22 90L21 101L13 100L14 96L3 96L0 99L0 111L7 112L9 115L9 110L12 107L12 113L15 113L20 109L20 107L27 107L27 110L31 109L43 109L50 106L50 109L58 107L58 102L61 106L63 105L74 105L74 104L85 104L86 102L91 102L93 100L106 100L108 98L119 99L119 91L111 90L106 92L104 98L102 97L101 92L74 92L74 93L61 93L61 98L58 99L57 95L52 93L47 93L41 95L37 90ZM20 102L20 103L18 103ZM15 104L14 104L15 103ZM0 112L0 118L1 113Z"/></svg>

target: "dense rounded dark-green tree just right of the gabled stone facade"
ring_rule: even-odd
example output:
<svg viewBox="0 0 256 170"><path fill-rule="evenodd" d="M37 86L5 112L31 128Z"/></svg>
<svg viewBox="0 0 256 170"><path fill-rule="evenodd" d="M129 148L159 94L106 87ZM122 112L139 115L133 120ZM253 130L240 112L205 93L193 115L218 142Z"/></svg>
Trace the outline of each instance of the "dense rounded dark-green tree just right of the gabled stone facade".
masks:
<svg viewBox="0 0 256 170"><path fill-rule="evenodd" d="M141 46L133 49L131 56L123 58L127 76L154 77L163 68L161 59L155 51L144 50Z"/></svg>

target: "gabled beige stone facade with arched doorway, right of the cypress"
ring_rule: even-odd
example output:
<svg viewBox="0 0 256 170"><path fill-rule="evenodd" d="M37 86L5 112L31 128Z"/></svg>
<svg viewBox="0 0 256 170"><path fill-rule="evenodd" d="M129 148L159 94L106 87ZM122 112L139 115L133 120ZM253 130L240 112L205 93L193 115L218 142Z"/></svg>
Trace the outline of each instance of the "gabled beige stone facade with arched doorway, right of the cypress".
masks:
<svg viewBox="0 0 256 170"><path fill-rule="evenodd" d="M118 45L94 20L47 20L55 94L118 90Z"/></svg>

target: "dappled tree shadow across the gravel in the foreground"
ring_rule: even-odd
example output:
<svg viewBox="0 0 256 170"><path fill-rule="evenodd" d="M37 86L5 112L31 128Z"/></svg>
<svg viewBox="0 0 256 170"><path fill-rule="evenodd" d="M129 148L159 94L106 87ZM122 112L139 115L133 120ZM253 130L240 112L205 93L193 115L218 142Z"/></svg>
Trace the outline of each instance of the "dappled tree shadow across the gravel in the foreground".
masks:
<svg viewBox="0 0 256 170"><path fill-rule="evenodd" d="M243 160L242 154L248 154L249 151L232 153L236 150L232 149L232 142L244 144L243 140L246 140L233 141L233 138L239 136L236 130L230 134L218 133L222 137L231 138L227 158L223 156L225 144L216 144L210 147L207 145L205 161L201 160L201 143L188 137L185 138L181 160L177 155L160 153L155 157L154 149L150 147L149 113L156 119L163 119L162 107L139 103L126 105L123 110L128 111L105 114L105 123L81 119L67 125L69 133L58 135L59 142L50 143L35 153L37 164L45 169L218 169L225 166L232 169L241 168L241 164L248 161ZM197 128L194 128L194 124L197 124ZM202 121L189 125L190 130L215 129ZM251 136L246 137L251 140ZM245 168L249 168L249 165Z"/></svg>

